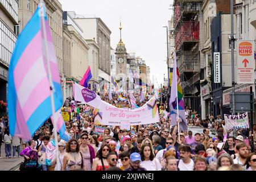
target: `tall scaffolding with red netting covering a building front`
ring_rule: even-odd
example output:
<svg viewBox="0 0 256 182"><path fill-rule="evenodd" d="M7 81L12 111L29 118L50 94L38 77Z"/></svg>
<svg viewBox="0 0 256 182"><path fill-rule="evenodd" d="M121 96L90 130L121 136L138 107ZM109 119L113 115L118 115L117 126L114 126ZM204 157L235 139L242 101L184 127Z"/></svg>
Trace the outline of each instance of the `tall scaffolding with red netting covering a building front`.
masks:
<svg viewBox="0 0 256 182"><path fill-rule="evenodd" d="M200 111L200 7L202 1L174 1L174 36L184 102Z"/></svg>

